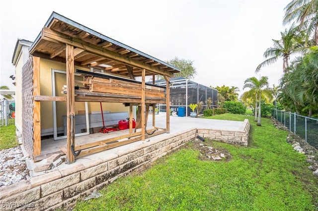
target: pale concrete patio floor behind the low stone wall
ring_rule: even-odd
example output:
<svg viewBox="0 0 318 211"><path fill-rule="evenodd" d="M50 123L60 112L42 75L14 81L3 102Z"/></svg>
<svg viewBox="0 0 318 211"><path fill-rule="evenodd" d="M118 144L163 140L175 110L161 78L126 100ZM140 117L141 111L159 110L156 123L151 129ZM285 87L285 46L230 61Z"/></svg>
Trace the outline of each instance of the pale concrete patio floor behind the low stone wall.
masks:
<svg viewBox="0 0 318 211"><path fill-rule="evenodd" d="M150 146L152 143L159 143L162 140L167 140L169 138L177 137L180 134L186 134L189 131L196 130L196 135L200 135L204 138L211 138L216 139L219 141L224 141L232 144L236 144L235 141L241 140L242 132L246 130L246 124L248 121L230 121L230 120L217 120L217 119L204 119L204 118L191 118L191 117L179 117L179 116L170 116L170 133L163 133L154 137L147 138L145 142L137 141L134 143L130 143L124 146L116 147L113 149L105 150L103 152L95 153L92 155L87 155L84 157L76 158L75 163L73 164L67 164L62 163L57 168L69 168L71 165L79 164L82 162L86 162L87 160L93 160L95 158L100 158L103 156L109 156L109 155L123 155L125 152L131 152L132 150L136 148L144 148ZM152 127L152 115L149 115L148 119L148 127ZM156 127L165 127L165 112L160 112L158 115L156 115ZM248 129L249 129L249 123L248 123ZM210 131L210 132L209 132ZM223 132L223 136L222 133ZM239 134L239 137L235 138L234 133ZM85 143L90 143L94 141L109 139L112 137L125 135L129 133L129 129L126 130L120 130L110 133L93 133L85 136L79 136L76 137L76 146L82 145ZM231 133L231 134L229 134ZM229 135L232 135L232 140L228 141L228 138L223 137L229 137ZM219 136L219 138L218 138ZM222 136L222 137L221 137ZM246 143L246 144L245 144ZM61 146L66 145L66 139L62 140L56 140L53 139L45 139L42 140L42 154L48 154L52 152L62 153L60 151ZM239 143L238 145L247 145L247 141L243 144ZM65 156L62 156L65 157ZM34 167L37 164L46 162L46 159L40 161L40 162L33 162L32 160L27 160L27 166L30 171L31 177L41 175L45 172L52 171L56 168L53 168L52 170L48 170L45 172L33 172Z"/></svg>

